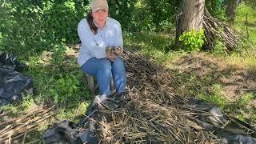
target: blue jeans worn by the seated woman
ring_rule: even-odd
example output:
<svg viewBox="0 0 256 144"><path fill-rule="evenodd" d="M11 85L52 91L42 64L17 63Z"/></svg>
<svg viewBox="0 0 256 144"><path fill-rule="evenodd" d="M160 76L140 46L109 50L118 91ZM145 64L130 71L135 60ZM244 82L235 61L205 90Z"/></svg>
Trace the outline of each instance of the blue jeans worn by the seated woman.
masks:
<svg viewBox="0 0 256 144"><path fill-rule="evenodd" d="M126 69L122 58L115 58L114 62L106 58L90 58L82 66L82 71L97 78L101 94L110 94L110 82L113 76L114 88L117 92L126 89Z"/></svg>

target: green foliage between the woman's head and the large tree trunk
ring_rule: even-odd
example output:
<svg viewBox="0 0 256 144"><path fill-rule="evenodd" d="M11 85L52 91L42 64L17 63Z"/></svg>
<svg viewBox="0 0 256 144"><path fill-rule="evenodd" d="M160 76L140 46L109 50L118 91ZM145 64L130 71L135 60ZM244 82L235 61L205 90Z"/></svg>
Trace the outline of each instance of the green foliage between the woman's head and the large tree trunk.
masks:
<svg viewBox="0 0 256 144"><path fill-rule="evenodd" d="M110 16L127 31L170 30L180 1L114 0L109 2Z"/></svg>

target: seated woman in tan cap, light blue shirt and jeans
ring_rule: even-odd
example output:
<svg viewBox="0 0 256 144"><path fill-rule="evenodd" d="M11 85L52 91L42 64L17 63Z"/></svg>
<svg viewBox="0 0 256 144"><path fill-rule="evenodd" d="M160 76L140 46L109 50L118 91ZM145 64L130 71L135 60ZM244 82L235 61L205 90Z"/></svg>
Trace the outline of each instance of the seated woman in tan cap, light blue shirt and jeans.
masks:
<svg viewBox="0 0 256 144"><path fill-rule="evenodd" d="M117 55L106 56L106 47L117 46L123 50L122 29L118 21L108 17L106 0L94 0L86 18L78 24L78 35L82 42L78 64L86 74L97 78L101 94L110 94L113 77L115 90L122 94L126 88L126 70Z"/></svg>

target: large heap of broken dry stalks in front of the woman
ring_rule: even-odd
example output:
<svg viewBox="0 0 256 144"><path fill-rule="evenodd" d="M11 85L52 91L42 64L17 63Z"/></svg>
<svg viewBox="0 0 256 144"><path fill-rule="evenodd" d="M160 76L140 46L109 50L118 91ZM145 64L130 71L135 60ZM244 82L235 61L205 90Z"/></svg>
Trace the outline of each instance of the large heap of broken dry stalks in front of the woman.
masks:
<svg viewBox="0 0 256 144"><path fill-rule="evenodd" d="M174 78L142 55L125 51L130 99L119 110L108 111L110 122L102 122L103 143L219 143L202 130L186 110L178 109Z"/></svg>

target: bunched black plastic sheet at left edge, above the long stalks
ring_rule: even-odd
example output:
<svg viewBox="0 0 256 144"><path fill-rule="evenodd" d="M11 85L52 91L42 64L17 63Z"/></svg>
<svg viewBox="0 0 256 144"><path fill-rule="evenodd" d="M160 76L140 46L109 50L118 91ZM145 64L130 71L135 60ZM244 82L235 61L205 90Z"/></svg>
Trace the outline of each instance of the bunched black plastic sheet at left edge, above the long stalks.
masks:
<svg viewBox="0 0 256 144"><path fill-rule="evenodd" d="M14 71L24 67L14 55L0 52L0 107L33 93L32 80Z"/></svg>

